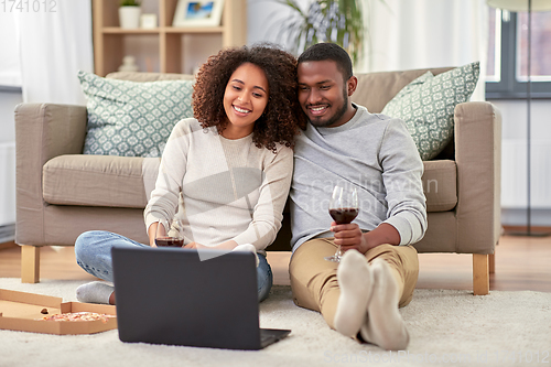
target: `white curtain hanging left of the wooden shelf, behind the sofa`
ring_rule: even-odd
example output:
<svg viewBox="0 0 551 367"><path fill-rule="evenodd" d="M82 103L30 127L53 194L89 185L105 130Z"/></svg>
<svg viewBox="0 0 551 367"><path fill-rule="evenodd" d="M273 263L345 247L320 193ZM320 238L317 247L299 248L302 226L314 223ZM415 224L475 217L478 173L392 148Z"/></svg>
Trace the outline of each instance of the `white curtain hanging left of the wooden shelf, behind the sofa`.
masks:
<svg viewBox="0 0 551 367"><path fill-rule="evenodd" d="M86 104L77 78L94 71L91 1L58 0L55 12L14 12L23 101Z"/></svg>

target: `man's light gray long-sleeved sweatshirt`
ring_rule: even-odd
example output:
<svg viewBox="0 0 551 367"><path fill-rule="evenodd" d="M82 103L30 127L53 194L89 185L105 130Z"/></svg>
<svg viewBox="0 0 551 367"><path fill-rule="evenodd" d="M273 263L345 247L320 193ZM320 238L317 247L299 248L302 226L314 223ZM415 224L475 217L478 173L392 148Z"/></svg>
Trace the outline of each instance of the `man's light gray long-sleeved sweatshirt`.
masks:
<svg viewBox="0 0 551 367"><path fill-rule="evenodd" d="M328 204L336 184L357 187L359 214L354 223L363 230L388 223L400 234L400 245L419 241L426 230L423 162L406 123L355 107L355 116L345 125L315 128L309 123L296 138L293 251L309 239L333 237Z"/></svg>

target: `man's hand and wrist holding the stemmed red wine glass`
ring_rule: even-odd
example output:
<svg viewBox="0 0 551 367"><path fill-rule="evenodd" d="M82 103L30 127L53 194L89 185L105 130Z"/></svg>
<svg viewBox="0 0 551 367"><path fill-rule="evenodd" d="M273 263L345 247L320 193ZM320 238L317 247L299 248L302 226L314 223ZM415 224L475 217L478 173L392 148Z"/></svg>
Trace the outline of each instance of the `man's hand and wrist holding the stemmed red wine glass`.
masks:
<svg viewBox="0 0 551 367"><path fill-rule="evenodd" d="M366 253L367 250L379 245L400 245L400 234L387 223L381 223L374 230L364 234L355 223L337 225L333 222L331 230L335 233L335 245L341 245L343 252L355 249Z"/></svg>

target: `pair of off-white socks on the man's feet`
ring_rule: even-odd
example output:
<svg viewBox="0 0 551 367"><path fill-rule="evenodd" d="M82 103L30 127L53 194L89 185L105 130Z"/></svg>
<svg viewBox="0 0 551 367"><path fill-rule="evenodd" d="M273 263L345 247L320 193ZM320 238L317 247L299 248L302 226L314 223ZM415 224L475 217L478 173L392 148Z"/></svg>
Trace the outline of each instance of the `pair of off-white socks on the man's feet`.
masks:
<svg viewBox="0 0 551 367"><path fill-rule="evenodd" d="M348 250L337 268L341 288L334 326L348 337L360 334L387 350L406 349L409 334L398 302L399 287L390 266L380 259L369 265L356 250Z"/></svg>

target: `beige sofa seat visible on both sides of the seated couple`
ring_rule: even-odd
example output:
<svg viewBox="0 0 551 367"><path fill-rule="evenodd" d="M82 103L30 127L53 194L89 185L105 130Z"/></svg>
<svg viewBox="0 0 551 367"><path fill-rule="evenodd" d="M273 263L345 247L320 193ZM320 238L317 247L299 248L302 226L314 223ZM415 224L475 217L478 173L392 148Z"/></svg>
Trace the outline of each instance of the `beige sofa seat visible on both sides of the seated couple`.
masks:
<svg viewBox="0 0 551 367"><path fill-rule="evenodd" d="M48 204L144 208L155 186L160 159L67 154L43 168L43 197ZM457 204L454 161L425 161L423 190L428 212Z"/></svg>

